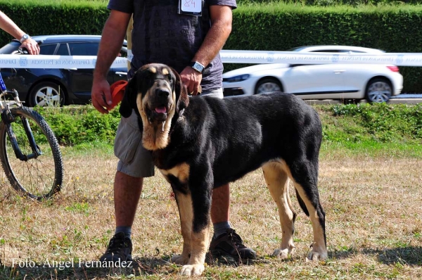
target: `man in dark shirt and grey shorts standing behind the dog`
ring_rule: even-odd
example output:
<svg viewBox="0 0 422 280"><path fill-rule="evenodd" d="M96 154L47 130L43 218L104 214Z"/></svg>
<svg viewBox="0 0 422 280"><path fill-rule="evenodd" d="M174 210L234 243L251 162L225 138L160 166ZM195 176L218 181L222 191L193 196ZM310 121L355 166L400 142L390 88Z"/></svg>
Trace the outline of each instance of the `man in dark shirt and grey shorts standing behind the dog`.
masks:
<svg viewBox="0 0 422 280"><path fill-rule="evenodd" d="M142 65L164 63L179 72L193 95L223 97L219 51L231 32L235 0L110 0L108 8L110 16L103 28L91 91L92 103L99 112L110 110L110 84L106 76L121 49L132 14L133 58L129 79ZM102 261L131 259L130 236L143 177L154 174L151 153L141 144L136 114L120 120L115 155L119 158L114 184L116 228L106 253L101 256ZM255 251L245 247L241 237L231 229L229 184L213 191L211 219L213 255L255 257Z"/></svg>

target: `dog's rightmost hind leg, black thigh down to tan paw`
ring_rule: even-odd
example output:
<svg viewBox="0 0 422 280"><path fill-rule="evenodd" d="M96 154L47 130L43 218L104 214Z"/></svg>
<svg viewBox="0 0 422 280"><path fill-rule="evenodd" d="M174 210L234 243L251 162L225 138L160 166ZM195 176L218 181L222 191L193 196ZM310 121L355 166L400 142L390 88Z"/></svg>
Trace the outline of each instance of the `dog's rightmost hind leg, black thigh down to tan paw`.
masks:
<svg viewBox="0 0 422 280"><path fill-rule="evenodd" d="M318 191L318 161L298 160L290 165L290 174L295 185L296 193L302 202L300 206L306 207L305 213L309 214L314 242L312 252L307 256L309 260L325 260L328 256L326 248L325 212L319 201Z"/></svg>

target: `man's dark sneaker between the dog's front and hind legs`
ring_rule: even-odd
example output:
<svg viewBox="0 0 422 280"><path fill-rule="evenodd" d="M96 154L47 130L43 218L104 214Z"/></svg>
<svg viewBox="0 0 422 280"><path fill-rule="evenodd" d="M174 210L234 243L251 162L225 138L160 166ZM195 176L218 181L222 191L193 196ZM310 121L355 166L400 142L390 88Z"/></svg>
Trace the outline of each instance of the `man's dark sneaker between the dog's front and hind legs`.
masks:
<svg viewBox="0 0 422 280"><path fill-rule="evenodd" d="M235 260L255 259L257 256L254 250L243 245L241 236L236 234L234 229L226 229L226 232L217 238L212 236L210 253L213 257L226 255Z"/></svg>

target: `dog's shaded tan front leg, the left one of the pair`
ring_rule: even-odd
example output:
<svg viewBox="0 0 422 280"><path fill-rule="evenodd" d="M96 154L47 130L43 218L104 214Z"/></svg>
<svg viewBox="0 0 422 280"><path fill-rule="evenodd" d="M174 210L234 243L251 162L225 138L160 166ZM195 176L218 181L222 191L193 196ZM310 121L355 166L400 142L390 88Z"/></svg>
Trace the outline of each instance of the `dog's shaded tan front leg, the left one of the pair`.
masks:
<svg viewBox="0 0 422 280"><path fill-rule="evenodd" d="M193 207L190 194L175 193L177 208L179 208L181 236L183 236L183 250L181 255L174 255L171 259L177 265L186 265L189 261L192 246Z"/></svg>

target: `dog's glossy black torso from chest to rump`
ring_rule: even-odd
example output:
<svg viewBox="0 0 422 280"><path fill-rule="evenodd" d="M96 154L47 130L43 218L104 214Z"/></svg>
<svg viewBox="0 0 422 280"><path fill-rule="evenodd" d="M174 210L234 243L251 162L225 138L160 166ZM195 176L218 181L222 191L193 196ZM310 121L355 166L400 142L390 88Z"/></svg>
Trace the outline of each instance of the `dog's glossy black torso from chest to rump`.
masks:
<svg viewBox="0 0 422 280"><path fill-rule="evenodd" d="M321 144L318 114L300 98L281 92L225 99L194 96L184 117L189 121L172 124L169 146L155 151L155 164L169 169L181 161L205 161L212 165L214 186L234 182L270 160L293 164L298 156L317 157Z"/></svg>

